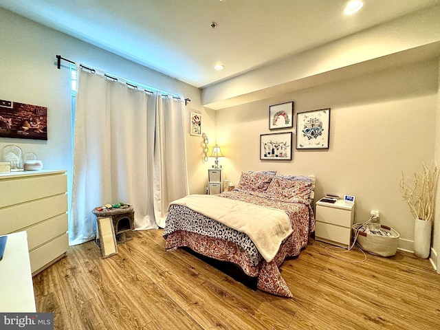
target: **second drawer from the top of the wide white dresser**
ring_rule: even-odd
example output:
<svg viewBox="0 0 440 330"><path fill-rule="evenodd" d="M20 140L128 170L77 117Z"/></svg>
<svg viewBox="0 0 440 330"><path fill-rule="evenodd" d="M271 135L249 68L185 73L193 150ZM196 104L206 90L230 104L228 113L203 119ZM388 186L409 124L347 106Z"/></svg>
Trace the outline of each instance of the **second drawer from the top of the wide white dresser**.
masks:
<svg viewBox="0 0 440 330"><path fill-rule="evenodd" d="M34 223L67 212L67 195L56 195L0 209L0 235L17 232ZM67 222L67 221L66 221Z"/></svg>

